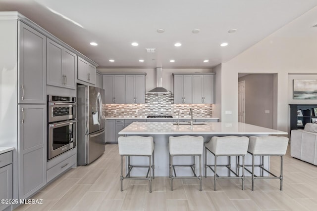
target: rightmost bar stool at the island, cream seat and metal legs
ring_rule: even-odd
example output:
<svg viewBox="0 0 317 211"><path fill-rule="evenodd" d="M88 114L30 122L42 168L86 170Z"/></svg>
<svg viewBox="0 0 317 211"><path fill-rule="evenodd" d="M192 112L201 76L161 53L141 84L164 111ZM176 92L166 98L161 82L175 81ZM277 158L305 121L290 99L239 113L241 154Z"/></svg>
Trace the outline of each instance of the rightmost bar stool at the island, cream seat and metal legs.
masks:
<svg viewBox="0 0 317 211"><path fill-rule="evenodd" d="M259 178L264 179L280 179L280 190L283 189L283 156L286 154L288 138L282 136L250 136L249 137L249 149L248 153L252 155L252 171L246 169L252 174L252 190L254 191L254 180ZM255 156L261 156L260 165L255 165ZM281 157L281 171L280 176L276 176L268 169L264 168L264 156L280 156ZM254 173L255 167L261 169L261 176L257 176ZM263 173L266 171L272 176L264 176Z"/></svg>

